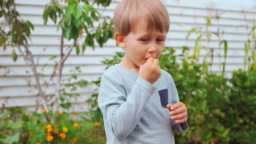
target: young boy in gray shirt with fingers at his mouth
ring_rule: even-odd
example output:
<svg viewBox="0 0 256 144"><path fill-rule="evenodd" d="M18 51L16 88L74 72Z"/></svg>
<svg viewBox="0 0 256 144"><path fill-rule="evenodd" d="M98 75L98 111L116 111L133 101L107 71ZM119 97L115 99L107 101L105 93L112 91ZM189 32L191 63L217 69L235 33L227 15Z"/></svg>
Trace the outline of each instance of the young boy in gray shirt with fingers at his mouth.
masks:
<svg viewBox="0 0 256 144"><path fill-rule="evenodd" d="M160 0L122 0L114 25L125 56L101 79L98 106L107 143L174 144L174 131L188 125L187 107L158 63L170 26L167 9Z"/></svg>

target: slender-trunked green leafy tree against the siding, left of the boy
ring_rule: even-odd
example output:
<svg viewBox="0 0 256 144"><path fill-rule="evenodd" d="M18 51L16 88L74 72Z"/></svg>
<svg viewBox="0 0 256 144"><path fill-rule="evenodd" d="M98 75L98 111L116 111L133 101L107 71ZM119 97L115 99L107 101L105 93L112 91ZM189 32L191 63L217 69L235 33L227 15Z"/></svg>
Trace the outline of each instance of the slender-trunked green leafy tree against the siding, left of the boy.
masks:
<svg viewBox="0 0 256 144"><path fill-rule="evenodd" d="M65 101L69 101L69 98L73 96L71 92L75 91L76 86L82 87L88 84L85 80L78 81L76 75L73 75L71 77L73 81L71 82L69 79L69 84L63 85L62 69L66 59L74 49L77 55L84 54L86 47L95 49L95 41L102 47L109 38L113 37L114 28L110 17L101 16L98 10L94 8L95 4L107 7L110 2L111 0L95 0L93 3L89 3L89 0L66 0L64 2L51 0L46 4L43 12L44 24L51 19L53 23L58 23L57 29L61 29L59 60L56 61L57 56L50 59L56 62L55 70L51 75L51 80L56 84L56 91L51 95L45 95L43 91L42 86L49 86L49 82L40 83L44 74L37 72L37 65L34 62L33 53L30 51L28 40L34 25L20 17L16 11L14 0L2 0L0 2L0 17L4 18L3 25L0 26L0 46L3 46L4 50L7 49L8 45L13 47L11 56L14 62L19 56L16 54L16 50L18 50L26 62L31 65L39 95L38 102L43 108L53 109L54 113L59 109L59 105L62 108L70 108L70 103ZM95 26L96 24L97 26ZM64 43L65 39L71 43L69 46ZM68 49L68 52L65 53L64 48ZM66 91L66 87L70 87L71 91ZM48 105L52 107L48 108Z"/></svg>

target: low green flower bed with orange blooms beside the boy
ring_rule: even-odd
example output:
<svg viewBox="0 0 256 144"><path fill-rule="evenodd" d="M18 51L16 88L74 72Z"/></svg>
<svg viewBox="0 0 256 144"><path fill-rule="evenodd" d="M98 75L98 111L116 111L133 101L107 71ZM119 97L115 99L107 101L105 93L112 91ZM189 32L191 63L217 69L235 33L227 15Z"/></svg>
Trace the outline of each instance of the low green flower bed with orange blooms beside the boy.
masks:
<svg viewBox="0 0 256 144"><path fill-rule="evenodd" d="M1 112L0 143L1 144L105 144L103 121L92 121L84 113L51 114L43 110L28 115L22 108L10 108ZM13 116L21 116L20 121ZM53 115L51 121L49 115ZM47 120L48 119L48 120ZM13 121L13 122L12 122Z"/></svg>

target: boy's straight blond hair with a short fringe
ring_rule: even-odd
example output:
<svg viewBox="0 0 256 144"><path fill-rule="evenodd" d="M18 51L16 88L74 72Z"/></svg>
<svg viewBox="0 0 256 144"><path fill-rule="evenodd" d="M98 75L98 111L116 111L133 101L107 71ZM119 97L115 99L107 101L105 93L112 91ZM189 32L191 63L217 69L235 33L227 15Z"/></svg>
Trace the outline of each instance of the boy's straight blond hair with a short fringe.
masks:
<svg viewBox="0 0 256 144"><path fill-rule="evenodd" d="M122 0L114 11L115 32L127 36L135 32L140 20L146 20L148 30L168 32L170 18L160 0Z"/></svg>

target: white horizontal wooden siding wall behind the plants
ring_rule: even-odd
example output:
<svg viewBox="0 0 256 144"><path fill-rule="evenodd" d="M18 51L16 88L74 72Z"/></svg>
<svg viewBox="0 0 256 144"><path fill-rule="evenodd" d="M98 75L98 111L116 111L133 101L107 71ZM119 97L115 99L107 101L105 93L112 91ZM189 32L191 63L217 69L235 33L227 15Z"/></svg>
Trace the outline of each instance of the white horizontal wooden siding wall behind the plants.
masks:
<svg viewBox="0 0 256 144"><path fill-rule="evenodd" d="M120 0L118 0L120 1ZM180 47L180 46L194 46L196 39L195 34L191 34L188 41L185 40L187 32L193 26L205 26L206 17L209 14L221 13L220 20L212 19L211 30L216 31L217 28L224 29L225 35L223 39L228 41L228 59L226 65L226 71L231 72L239 68L243 68L243 55L244 55L244 42L247 39L247 30L245 27L237 27L245 25L244 13L242 7L238 4L232 3L215 3L214 10L211 12L207 10L209 6L207 0L163 0L170 13L171 17L171 29L168 33L166 46ZM43 25L42 13L44 6L49 1L45 0L16 0L17 10L25 20L30 20L35 25L35 31L32 32L32 44L30 50L34 55L36 61L37 70L39 73L46 75L41 77L41 83L47 81L50 82L49 88L43 87L46 94L53 94L55 90L54 83L49 81L50 75L53 72L54 61L49 59L52 56L59 55L60 45L60 32L57 32L56 26L53 22L49 21L47 26ZM112 2L110 7L104 11L103 15L112 17L113 10L118 2ZM251 6L243 6L246 10L247 24L253 25L255 22L256 11ZM98 10L102 11L102 7ZM176 23L176 24L174 24ZM181 25L177 25L181 24ZM65 41L66 44L70 43ZM218 48L217 37L212 37L210 42L211 48ZM202 42L202 45L204 43ZM101 49L96 46L95 51L87 48L84 56L76 56L75 51L67 59L66 65L63 69L63 79L69 78L72 73L70 70L75 69L76 66L81 66L82 73L78 75L79 79L95 80L98 79L105 71L105 65L102 65L101 61L105 58L112 58L114 52L122 51L115 44L114 40L109 40L107 44ZM19 54L18 60L13 62L10 57L12 52L11 47L7 47L7 50L3 52L0 49L0 107L4 104L6 107L13 106L26 106L30 110L35 109L36 94L35 81L32 76L30 66L26 65L23 57ZM19 53L19 52L18 52ZM204 56L206 53L201 52ZM223 52L222 60L223 60ZM217 55L215 55L217 56ZM213 70L218 71L219 59L215 57ZM48 65L46 65L48 64ZM83 66L86 65L86 66ZM28 82L29 85L28 86ZM75 105L76 111L84 111L87 106L85 100L91 95L93 87L79 88L76 93L81 94L81 98ZM40 110L40 109L39 109Z"/></svg>

